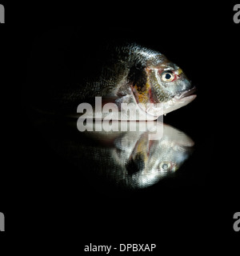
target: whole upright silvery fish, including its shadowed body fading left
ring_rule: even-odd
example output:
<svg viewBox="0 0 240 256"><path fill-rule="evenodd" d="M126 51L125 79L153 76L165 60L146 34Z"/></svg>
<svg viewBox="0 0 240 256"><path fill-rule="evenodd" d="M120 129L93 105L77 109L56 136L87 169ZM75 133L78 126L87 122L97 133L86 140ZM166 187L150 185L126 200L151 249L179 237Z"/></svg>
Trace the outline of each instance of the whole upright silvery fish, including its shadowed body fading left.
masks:
<svg viewBox="0 0 240 256"><path fill-rule="evenodd" d="M77 69L71 59L68 60L68 55L71 54L66 51L65 61L56 63L63 70L57 69L59 74L55 72L55 76L67 72L72 74L71 70ZM158 51L135 43L108 42L100 50L81 51L78 62L83 64L74 71L78 73L76 79L70 78L71 81L66 82L62 79L59 85L54 76L47 88L44 82L38 86L35 94L39 97L39 110L74 115L81 102L93 102L93 98L99 96L103 97L102 104L113 102L120 110L121 103L132 103L133 108L144 114L133 117L126 112L126 117L122 116L124 119L156 119L185 106L196 97L194 87L181 68ZM31 90L34 90L33 86Z"/></svg>

